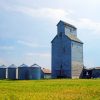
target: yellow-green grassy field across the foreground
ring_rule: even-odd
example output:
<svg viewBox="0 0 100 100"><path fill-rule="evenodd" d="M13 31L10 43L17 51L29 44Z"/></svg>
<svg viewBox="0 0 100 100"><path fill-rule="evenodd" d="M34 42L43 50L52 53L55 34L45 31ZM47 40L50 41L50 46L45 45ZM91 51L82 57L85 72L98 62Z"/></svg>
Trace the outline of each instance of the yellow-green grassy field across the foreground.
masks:
<svg viewBox="0 0 100 100"><path fill-rule="evenodd" d="M0 80L0 100L100 100L100 79Z"/></svg>

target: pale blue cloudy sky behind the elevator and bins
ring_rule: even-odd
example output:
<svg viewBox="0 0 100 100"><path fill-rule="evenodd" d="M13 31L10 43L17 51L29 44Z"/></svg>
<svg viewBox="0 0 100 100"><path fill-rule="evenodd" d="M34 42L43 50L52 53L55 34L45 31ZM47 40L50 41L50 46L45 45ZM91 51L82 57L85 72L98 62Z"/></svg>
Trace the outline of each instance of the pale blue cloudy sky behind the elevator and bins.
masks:
<svg viewBox="0 0 100 100"><path fill-rule="evenodd" d="M100 0L0 0L0 65L50 68L59 20L78 28L84 65L100 66Z"/></svg>

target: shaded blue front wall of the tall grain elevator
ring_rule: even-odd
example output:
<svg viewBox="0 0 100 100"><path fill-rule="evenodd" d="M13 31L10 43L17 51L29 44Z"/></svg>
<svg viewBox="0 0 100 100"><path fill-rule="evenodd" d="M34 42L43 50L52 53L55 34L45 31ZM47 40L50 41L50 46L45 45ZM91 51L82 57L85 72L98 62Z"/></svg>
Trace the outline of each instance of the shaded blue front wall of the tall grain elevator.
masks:
<svg viewBox="0 0 100 100"><path fill-rule="evenodd" d="M52 77L71 77L71 41L65 37L56 38L52 43ZM64 71L61 74L61 67Z"/></svg>

